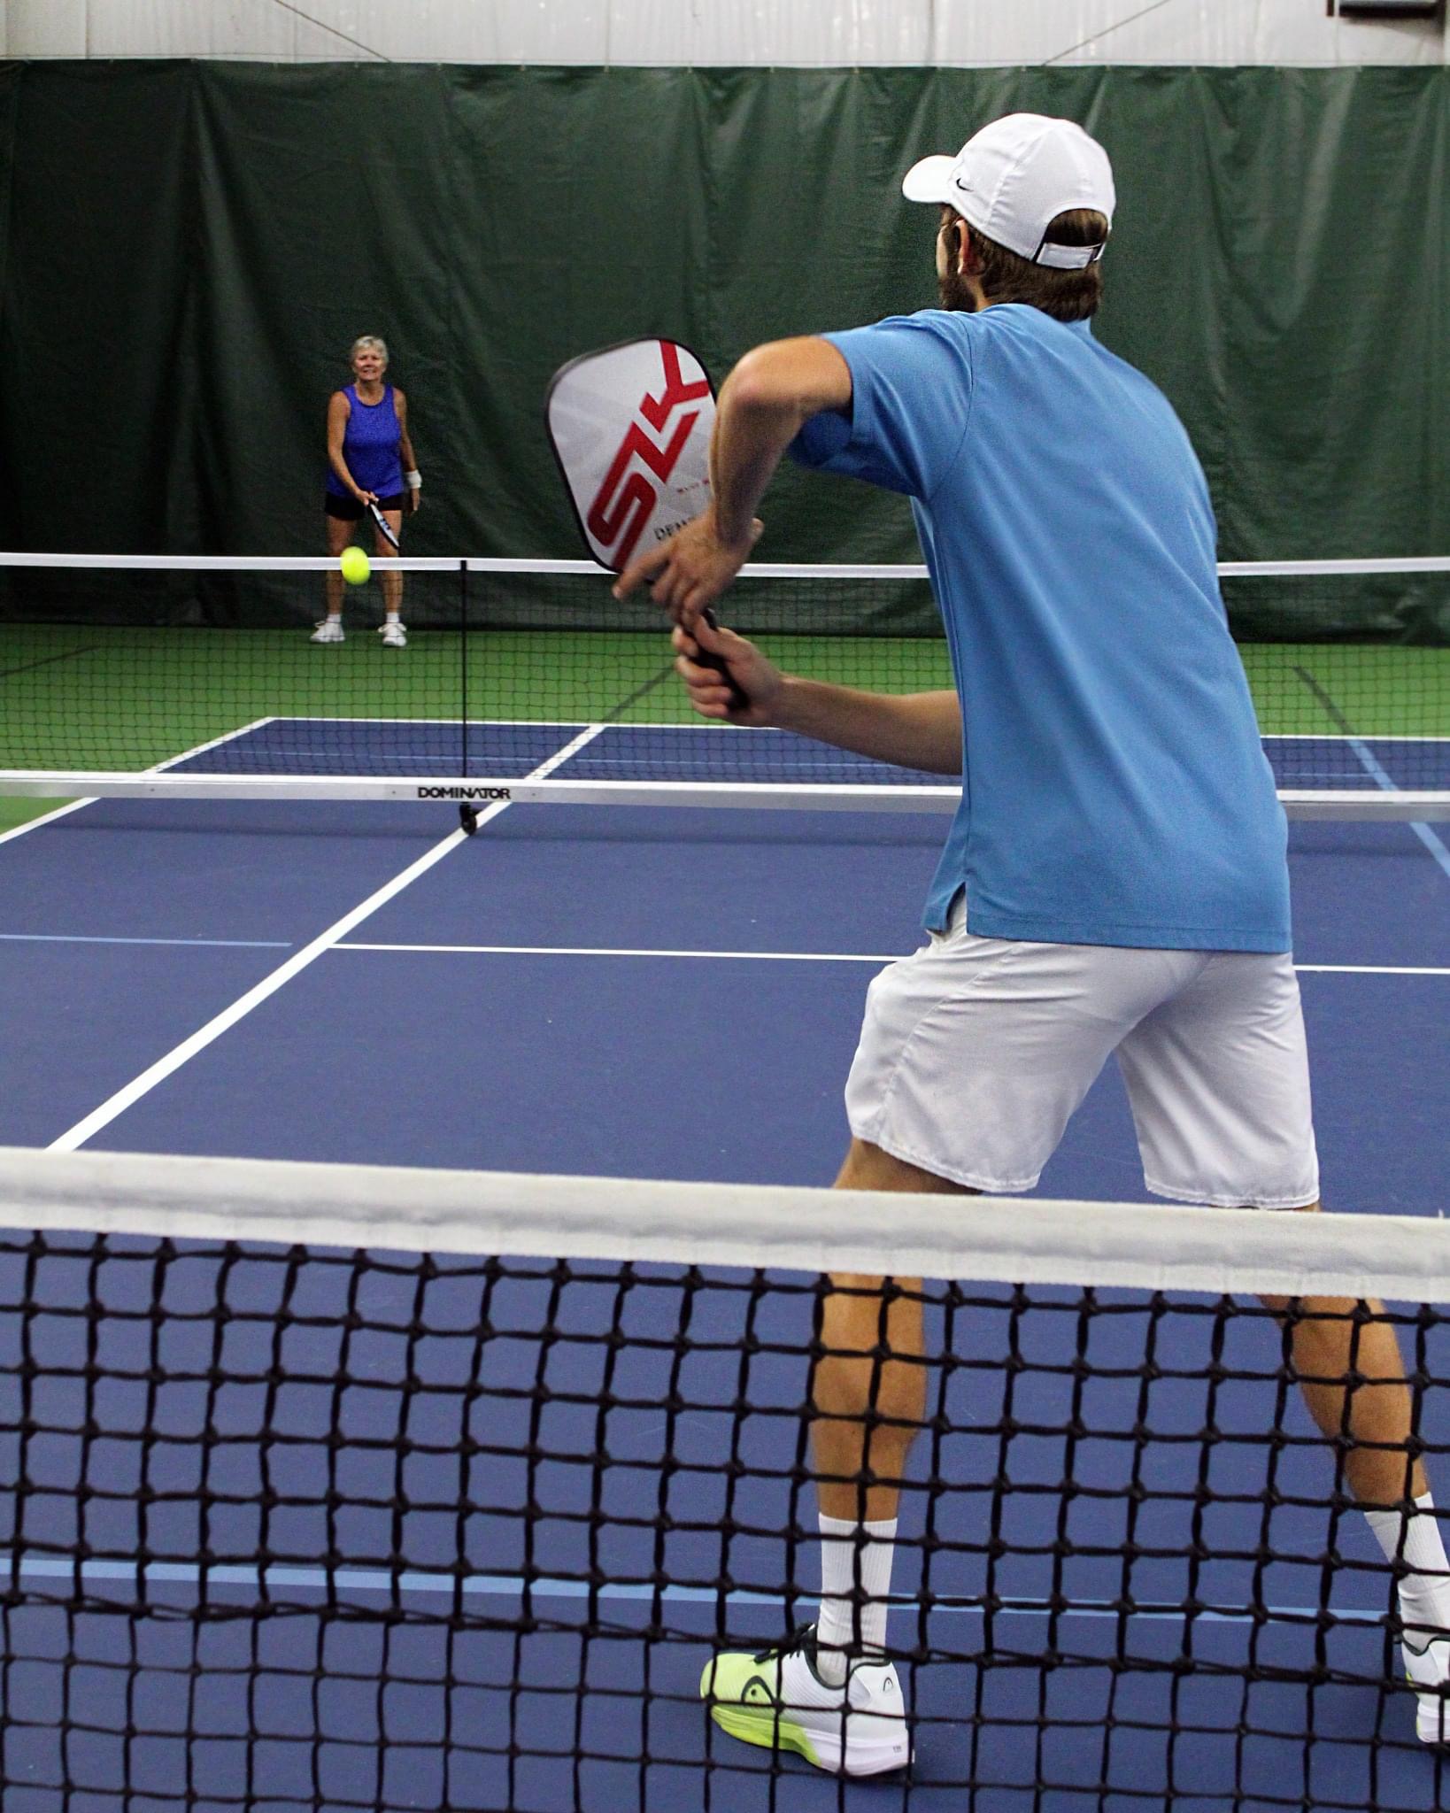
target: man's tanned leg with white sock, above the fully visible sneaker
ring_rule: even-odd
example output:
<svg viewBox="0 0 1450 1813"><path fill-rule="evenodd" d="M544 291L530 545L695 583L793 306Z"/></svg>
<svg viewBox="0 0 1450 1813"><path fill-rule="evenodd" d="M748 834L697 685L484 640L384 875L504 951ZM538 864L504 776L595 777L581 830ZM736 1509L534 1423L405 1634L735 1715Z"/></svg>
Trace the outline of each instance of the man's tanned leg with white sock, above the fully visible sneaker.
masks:
<svg viewBox="0 0 1450 1813"><path fill-rule="evenodd" d="M836 1188L972 1193L866 1140L852 1140ZM850 1655L879 1652L886 1641L899 1481L924 1416L926 1367L919 1278L837 1273L830 1284L821 1304L826 1351L812 1378L821 1512L816 1639L823 1679L843 1681Z"/></svg>

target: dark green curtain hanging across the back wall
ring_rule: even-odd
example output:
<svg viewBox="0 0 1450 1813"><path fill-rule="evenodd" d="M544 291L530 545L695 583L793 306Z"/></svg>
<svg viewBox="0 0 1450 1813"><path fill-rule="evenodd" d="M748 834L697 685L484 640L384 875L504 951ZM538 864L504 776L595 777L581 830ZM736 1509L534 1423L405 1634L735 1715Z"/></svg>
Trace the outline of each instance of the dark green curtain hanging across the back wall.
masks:
<svg viewBox="0 0 1450 1813"><path fill-rule="evenodd" d="M1450 551L1446 69L0 71L0 540L321 546L355 334L408 390L413 553L573 553L549 373L933 299L901 172L1015 107L1118 174L1102 339L1182 412L1225 558ZM990 457L990 450L982 450ZM899 499L788 473L763 557L910 558Z"/></svg>

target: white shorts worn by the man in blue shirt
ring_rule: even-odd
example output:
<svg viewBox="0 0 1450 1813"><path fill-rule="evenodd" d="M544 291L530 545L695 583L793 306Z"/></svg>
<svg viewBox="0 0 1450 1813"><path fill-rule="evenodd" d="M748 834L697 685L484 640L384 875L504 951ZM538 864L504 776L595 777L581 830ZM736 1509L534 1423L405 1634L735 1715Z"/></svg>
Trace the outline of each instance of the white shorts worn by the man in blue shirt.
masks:
<svg viewBox="0 0 1450 1813"><path fill-rule="evenodd" d="M946 932L866 994L857 1139L991 1195L1031 1189L1109 1052L1144 1182L1178 1202L1320 1198L1300 984L1287 955Z"/></svg>

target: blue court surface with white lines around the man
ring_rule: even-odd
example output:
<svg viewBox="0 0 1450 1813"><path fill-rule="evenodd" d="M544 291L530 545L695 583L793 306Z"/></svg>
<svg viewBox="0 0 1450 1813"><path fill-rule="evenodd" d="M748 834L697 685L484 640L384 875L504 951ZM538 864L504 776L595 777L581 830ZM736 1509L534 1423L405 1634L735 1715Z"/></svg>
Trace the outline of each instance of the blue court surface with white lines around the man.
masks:
<svg viewBox="0 0 1450 1813"><path fill-rule="evenodd" d="M379 732L399 734L386 725ZM607 734L589 745L594 778L629 772L627 740L611 751ZM718 732L700 734L714 742ZM714 761L700 747L701 767ZM283 767L286 754L279 751ZM518 772L547 754L547 742L520 754ZM1370 754L1388 769L1374 783L1392 785L1394 749L1376 745ZM386 754L390 772L411 772L397 767L397 747ZM682 763L674 776L689 778L687 742ZM1363 760L1359 772L1368 772ZM830 1180L846 1140L841 1082L865 988L883 961L915 945L944 819L511 805L486 812L475 838L455 823L444 805L98 801L0 839L7 1026L0 1144ZM1325 1200L1341 1211L1441 1215L1450 852L1434 827L1296 825L1292 879ZM1131 1119L1111 1068L1069 1128L1042 1193L1142 1198ZM62 1307L67 1300L63 1255L54 1264L49 1282L36 1280L22 1251L0 1249L5 1369L20 1352L22 1287L38 1287L42 1302L45 1291ZM167 1296L183 1311L178 1343L187 1307L205 1307L216 1291L216 1264L178 1262ZM257 1249L241 1264L245 1287L265 1304L277 1289L279 1256ZM14 1784L5 1813L60 1808L54 1782L63 1775L82 1784L67 1813L179 1804L207 1813L359 1804L825 1813L903 1804L901 1782L837 1789L796 1760L772 1775L763 1751L709 1728L696 1697L721 1619L734 1635L778 1635L794 1612L781 1597L788 1577L801 1610L810 1605L810 1561L776 1534L792 1517L812 1516L808 1492L803 1498L790 1478L796 1418L779 1414L805 1392L805 1360L768 1351L772 1329L781 1347L808 1338L808 1296L781 1291L759 1307L767 1351L750 1362L747 1396L761 1412L740 1434L749 1465L727 1507L730 1405L741 1389L734 1343L750 1302L738 1280L707 1280L691 1302L700 1349L680 1387L687 1414L663 1407L667 1343L622 1349L602 1441L609 1465L600 1476L589 1459L600 1447L589 1398L600 1389L605 1343L564 1342L551 1351L556 1401L542 1432L529 1421L527 1385L546 1320L580 1336L607 1334L620 1320L627 1333L669 1333L683 1313L685 1284L663 1269L622 1305L618 1280L602 1269L598 1278L576 1278L556 1302L544 1267L536 1273L497 1285L489 1304L493 1325L509 1338L495 1343L484 1380L497 1391L486 1465L466 1479L450 1445L450 1432L457 1440L450 1380L459 1343L466 1347L477 1331L486 1280L477 1264L448 1260L426 1282L408 1260L370 1275L368 1327L357 1336L370 1345L350 1354L348 1372L366 1372L372 1389L366 1405L343 1403L341 1414L344 1421L366 1414L368 1436L386 1447L404 1427L410 1391L417 1394L417 1385L404 1389L404 1372L411 1367L422 1378L439 1420L410 1463L410 1510L402 1525L393 1521L395 1481L368 1474L364 1441L348 1474L350 1516L323 1525L299 1512L281 1541L274 1527L270 1552L295 1543L301 1588L310 1581L319 1606L386 1599L377 1583L388 1557L401 1554L410 1617L203 1626L136 1619L123 1612L134 1574L127 1579L125 1561L112 1559L111 1585L98 1577L91 1610L67 1630L44 1581L27 1579L34 1588L27 1603L7 1601L5 1612L5 1779ZM147 1276L147 1265L136 1278L121 1265L120 1311L129 1304L143 1313ZM272 1380L266 1400L270 1425L297 1434L268 1485L299 1503L315 1498L319 1458L332 1452L315 1418L319 1392L341 1362L323 1311L348 1309L326 1267L306 1289L319 1305L319 1329L294 1331L285 1376ZM1194 1530L1202 1454L1182 1434L1209 1414L1207 1318L1173 1318L1178 1345L1169 1376L1153 1385L1158 1438L1147 1449L1127 1440L1142 1416L1135 1369L1146 1311L1124 1309L1097 1323L1089 1358L1104 1376L1091 1385L1095 1440L1069 1452L1077 1318L1042 1293L1011 1333L1004 1293L979 1294L981 1305L952 1333L961 1365L942 1382L950 1434L930 1458L933 1472L953 1483L942 1510L950 1525L937 1532L944 1548L932 1559L941 1603L926 1628L903 1608L892 1635L946 1657L990 1652L991 1666L941 1661L915 1672L914 1702L926 1722L910 1806L964 1808L961 1789L933 1782L968 1773L995 1784L972 1800L979 1813L1129 1813L1164 1804L1169 1789L1173 1804L1193 1813L1445 1804L1450 1777L1414 1746L1410 1699L1374 1684L1388 1663L1376 1624L1388 1590L1358 1516L1336 1519L1347 1566L1334 1605L1345 1617L1316 1652L1318 1574L1292 1556L1325 1545L1329 1470L1298 1405L1285 1425L1298 1440L1276 1461L1278 1503L1269 1517L1258 1496L1271 1461L1254 1436L1263 1432L1272 1385L1220 1391L1213 1416L1243 1440L1229 1440L1214 1456L1220 1501ZM404 1360L386 1331L419 1316L430 1342ZM24 1338L42 1354L47 1340L62 1351L69 1336L60 1320L47 1329L42 1311ZM993 1559L984 1519L997 1447L984 1425L1004 1414L1011 1385L999 1360L1017 1338L1030 1365L1013 1416L1048 1432L1017 1450L1015 1523L1004 1532L1015 1552ZM198 1487L201 1420L230 1416L227 1432L243 1449L257 1432L257 1391L272 1356L243 1327L228 1349L237 1394L225 1407L183 1382L127 1376L105 1405L56 1400L44 1412L54 1430L47 1465L56 1503L65 1481L89 1465L96 1420L109 1438L116 1499L102 1492L103 1503L91 1508L92 1552L125 1557L136 1545L127 1523L132 1476L143 1470L167 1501L147 1545L183 1557L172 1577L178 1606L194 1601L208 1556L245 1554L256 1541L254 1481L245 1472L232 1481L230 1523L203 1537L185 1517L187 1492ZM183 1352L178 1345L170 1358ZM1223 1358L1231 1369L1272 1371L1276 1338L1247 1316L1231 1327ZM1443 1331L1432 1331L1426 1363L1439 1378L1450 1374ZM14 1387L7 1389L11 1423ZM1432 1449L1446 1441L1445 1400L1445 1391L1426 1396ZM143 1441L141 1412L165 1429L165 1443ZM415 1423L408 1430L417 1436ZM526 1469L511 1456L533 1440L556 1458ZM1135 1452L1149 1469L1155 1501L1129 1532ZM1064 1496L1069 1467L1080 1490ZM1443 1454L1432 1454L1430 1469L1439 1499L1450 1499ZM609 1516L604 1528L587 1517L591 1494ZM672 1525L665 1537L654 1527L662 1510ZM736 1534L723 1554L718 1525L727 1510L736 1528L754 1534ZM1062 1528L1077 1548L1066 1566L1049 1552ZM1138 1548L1131 1563L1120 1554L1129 1534ZM468 1610L486 1614L451 1628L430 1615L453 1590L430 1568L444 1565L459 1537L477 1566ZM348 1557L346 1579L315 1559L332 1543ZM1204 1550L1196 1559L1194 1545ZM1283 1557L1269 1579L1256 1577L1262 1545ZM910 1592L915 1565L908 1552L897 1590ZM571 1581L591 1566L605 1579L594 1610L611 1634L584 1641L567 1628L587 1610ZM489 1617L497 1624L518 1614L526 1568L544 1577L533 1597L540 1628L527 1635L488 1628ZM662 1595L649 1585L656 1568L671 1583ZM736 1583L725 1610L705 1585L723 1568ZM991 1630L981 1608L988 1586L1002 1603ZM245 1568L208 1583L212 1595L232 1594L241 1606L257 1590ZM1058 1590L1071 1608L1051 1617L1048 1603ZM1140 1605L1131 1619L1095 1610L1129 1590ZM112 1592L118 1610L107 1612L96 1601ZM1223 1610L1251 1592L1276 1608L1267 1626ZM1196 1619L1185 1639L1180 1608L1191 1595L1220 1615ZM645 1643L642 1634L654 1624L665 1635ZM1185 1641L1196 1668L1180 1675L1162 1664L1180 1657ZM69 1672L67 1648L82 1657ZM1044 1648L1071 1664L1044 1675ZM1321 1675L1312 1693L1281 1679L1316 1657ZM1238 1672L1245 1663L1254 1666L1252 1682ZM127 1677L132 1686L121 1702L116 1682ZM451 1682L448 1692L442 1681ZM47 1730L62 1692L87 1711L63 1766ZM527 1731L531 1755L502 1753L511 1721ZM1169 1726L1178 1726L1173 1744ZM248 1728L263 1733L250 1746L241 1737ZM116 1733L127 1730L143 1735L123 1746ZM187 1730L201 1735L183 1744ZM1378 1753L1376 1733L1385 1739ZM587 1760L576 1762L576 1750ZM649 1768L638 1760L643 1750ZM118 1791L121 1779L130 1798ZM1033 1782L1053 1786L1035 1791Z"/></svg>

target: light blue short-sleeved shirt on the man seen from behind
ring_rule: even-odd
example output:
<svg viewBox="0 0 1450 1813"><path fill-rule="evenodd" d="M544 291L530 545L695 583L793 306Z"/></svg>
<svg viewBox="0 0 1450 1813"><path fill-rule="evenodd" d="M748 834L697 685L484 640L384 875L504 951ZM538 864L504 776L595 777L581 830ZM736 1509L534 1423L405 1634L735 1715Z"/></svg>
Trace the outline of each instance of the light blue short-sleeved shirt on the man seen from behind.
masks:
<svg viewBox="0 0 1450 1813"><path fill-rule="evenodd" d="M803 464L912 499L962 705L924 923L1053 945L1290 948L1285 818L1171 404L1026 305L825 335L852 406Z"/></svg>

